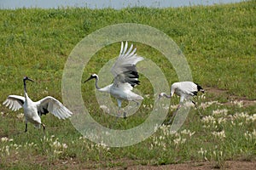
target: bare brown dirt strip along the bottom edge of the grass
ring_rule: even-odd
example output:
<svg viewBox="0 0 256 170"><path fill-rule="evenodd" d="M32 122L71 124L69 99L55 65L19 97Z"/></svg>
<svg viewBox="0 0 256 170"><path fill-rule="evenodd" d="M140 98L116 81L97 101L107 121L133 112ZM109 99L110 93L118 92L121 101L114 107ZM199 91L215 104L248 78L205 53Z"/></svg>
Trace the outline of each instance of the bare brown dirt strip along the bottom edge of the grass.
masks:
<svg viewBox="0 0 256 170"><path fill-rule="evenodd" d="M118 160L116 160L118 161ZM67 169L108 169L108 170L211 170L211 169L221 169L216 163L211 161L203 162L187 162L180 164L169 164L169 165L137 165L137 161L134 160L121 160L118 163L102 162L102 163L85 163L85 162L74 162L74 161L62 161L58 162L49 167L49 169L62 169L63 167ZM122 162L122 163L121 163ZM108 167L112 164L113 167ZM256 169L255 161L225 161L224 169L230 170L252 170Z"/></svg>

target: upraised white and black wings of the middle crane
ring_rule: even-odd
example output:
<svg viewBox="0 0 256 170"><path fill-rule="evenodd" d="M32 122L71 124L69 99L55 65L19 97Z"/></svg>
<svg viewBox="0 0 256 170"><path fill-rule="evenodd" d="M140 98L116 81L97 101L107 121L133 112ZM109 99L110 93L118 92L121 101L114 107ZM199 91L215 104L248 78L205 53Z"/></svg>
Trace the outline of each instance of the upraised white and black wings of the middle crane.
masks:
<svg viewBox="0 0 256 170"><path fill-rule="evenodd" d="M120 83L128 82L131 84L131 88L139 84L138 73L136 69L137 62L143 60L143 57L136 54L137 48L131 47L128 49L128 42L121 42L121 49L118 59L113 64L111 72L114 77L114 85L119 86ZM128 49L128 50L127 50Z"/></svg>

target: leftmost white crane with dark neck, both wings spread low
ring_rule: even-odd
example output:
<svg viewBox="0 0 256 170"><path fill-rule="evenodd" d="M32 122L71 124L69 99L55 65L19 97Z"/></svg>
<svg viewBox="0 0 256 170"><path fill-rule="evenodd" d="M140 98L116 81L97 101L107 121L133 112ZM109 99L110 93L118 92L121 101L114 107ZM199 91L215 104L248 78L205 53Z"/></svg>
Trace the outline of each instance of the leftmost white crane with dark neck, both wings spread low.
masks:
<svg viewBox="0 0 256 170"><path fill-rule="evenodd" d="M24 83L24 97L19 95L9 95L8 98L3 102L12 111L17 111L21 107L24 109L25 116L25 132L27 132L27 122L31 122L35 127L40 127L42 125L45 130L45 125L41 122L41 117L43 114L52 113L59 119L66 119L73 115L61 102L51 96L47 96L44 99L40 99L37 102L33 102L26 92L26 81L34 82L29 77L23 78Z"/></svg>

